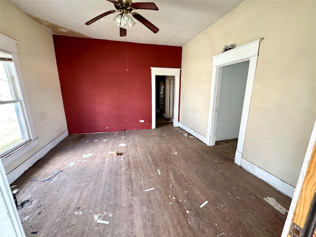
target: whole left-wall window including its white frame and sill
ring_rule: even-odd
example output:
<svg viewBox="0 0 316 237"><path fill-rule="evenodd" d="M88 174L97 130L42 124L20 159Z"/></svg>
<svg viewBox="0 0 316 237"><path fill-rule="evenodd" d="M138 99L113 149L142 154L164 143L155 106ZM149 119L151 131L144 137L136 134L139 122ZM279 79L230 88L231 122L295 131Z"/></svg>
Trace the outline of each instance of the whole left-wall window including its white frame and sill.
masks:
<svg viewBox="0 0 316 237"><path fill-rule="evenodd" d="M0 34L0 158L3 166L39 144L24 89L16 43Z"/></svg>

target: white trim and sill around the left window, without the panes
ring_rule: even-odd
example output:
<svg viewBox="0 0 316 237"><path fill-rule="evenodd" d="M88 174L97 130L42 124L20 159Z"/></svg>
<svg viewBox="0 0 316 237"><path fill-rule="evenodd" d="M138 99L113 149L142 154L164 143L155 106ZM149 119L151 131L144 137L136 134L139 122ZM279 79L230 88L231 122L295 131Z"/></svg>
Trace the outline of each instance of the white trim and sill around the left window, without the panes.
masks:
<svg viewBox="0 0 316 237"><path fill-rule="evenodd" d="M0 42L1 42L0 50L3 50L5 52L10 53L12 55L12 58L13 58L13 62L14 62L14 66L15 66L15 70L16 70L16 74L18 77L18 82L19 82L19 86L20 86L22 98L23 98L23 104L24 104L23 109L24 109L24 112L26 115L27 126L28 126L28 129L30 131L30 138L31 138L30 142L28 142L27 144L24 144L23 146L17 148L13 152L11 152L8 155L1 158L2 164L3 164L3 166L5 166L5 165L11 163L16 158L19 158L20 156L22 156L23 154L25 154L26 152L28 152L29 150L31 150L35 146L37 146L39 144L39 142L38 142L38 139L36 136L34 123L33 123L32 115L31 115L31 110L30 110L30 106L28 103L28 98L26 95L24 82L23 82L23 78L22 78L22 73L21 73L21 68L20 68L20 64L19 64L19 60L18 60L18 54L17 54L17 49L16 49L16 43L18 43L18 41L14 40L12 38L9 38L5 35L2 35L0 33Z"/></svg>

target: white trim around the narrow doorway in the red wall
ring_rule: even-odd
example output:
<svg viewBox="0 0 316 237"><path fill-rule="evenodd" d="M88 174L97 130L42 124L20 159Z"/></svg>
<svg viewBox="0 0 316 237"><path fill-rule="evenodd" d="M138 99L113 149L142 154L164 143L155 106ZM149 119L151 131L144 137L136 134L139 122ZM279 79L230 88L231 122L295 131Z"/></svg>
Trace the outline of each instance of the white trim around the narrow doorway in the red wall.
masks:
<svg viewBox="0 0 316 237"><path fill-rule="evenodd" d="M179 95L180 95L180 68L154 68L152 69L152 129L156 128L156 76L174 77L173 97L173 126L179 125Z"/></svg>

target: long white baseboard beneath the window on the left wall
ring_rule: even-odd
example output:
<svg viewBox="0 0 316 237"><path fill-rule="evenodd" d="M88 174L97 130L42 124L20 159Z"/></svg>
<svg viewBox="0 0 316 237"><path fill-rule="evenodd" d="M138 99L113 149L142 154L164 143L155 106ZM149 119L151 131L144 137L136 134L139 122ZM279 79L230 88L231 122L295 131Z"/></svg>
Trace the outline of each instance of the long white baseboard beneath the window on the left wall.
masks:
<svg viewBox="0 0 316 237"><path fill-rule="evenodd" d="M17 178L19 178L26 170L28 170L36 161L45 156L51 149L53 149L58 143L64 140L68 136L68 130L60 134L46 146L44 146L40 151L35 153L32 157L25 160L18 167L13 169L10 173L6 175L8 178L9 184L12 184Z"/></svg>

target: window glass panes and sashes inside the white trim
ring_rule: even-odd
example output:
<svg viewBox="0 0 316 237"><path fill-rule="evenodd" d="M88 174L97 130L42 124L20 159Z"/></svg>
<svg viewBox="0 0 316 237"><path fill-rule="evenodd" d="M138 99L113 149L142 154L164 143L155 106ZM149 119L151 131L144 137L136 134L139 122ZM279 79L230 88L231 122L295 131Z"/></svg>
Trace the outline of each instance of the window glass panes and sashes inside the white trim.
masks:
<svg viewBox="0 0 316 237"><path fill-rule="evenodd" d="M11 54L0 51L0 156L30 141L23 98Z"/></svg>

